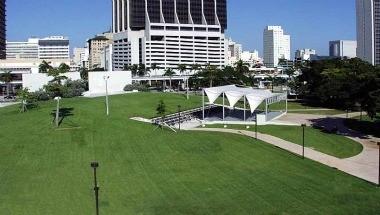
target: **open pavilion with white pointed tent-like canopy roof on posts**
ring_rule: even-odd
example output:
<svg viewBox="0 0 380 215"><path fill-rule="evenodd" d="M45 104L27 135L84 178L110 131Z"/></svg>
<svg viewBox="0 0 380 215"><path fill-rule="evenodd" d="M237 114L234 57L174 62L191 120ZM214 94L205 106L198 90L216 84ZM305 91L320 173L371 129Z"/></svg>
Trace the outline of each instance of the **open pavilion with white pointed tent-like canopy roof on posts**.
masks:
<svg viewBox="0 0 380 215"><path fill-rule="evenodd" d="M247 101L251 113L254 113L260 104L265 102L265 121L268 121L268 105L270 104L286 101L285 113L288 111L287 93L272 93L270 90L242 88L235 85L226 85L203 89L203 120L205 120L205 96L207 96L209 104L215 104L216 100L220 96L223 97L223 121L225 120L225 98L227 98L230 108L234 108L239 100L244 100L244 121L246 121Z"/></svg>

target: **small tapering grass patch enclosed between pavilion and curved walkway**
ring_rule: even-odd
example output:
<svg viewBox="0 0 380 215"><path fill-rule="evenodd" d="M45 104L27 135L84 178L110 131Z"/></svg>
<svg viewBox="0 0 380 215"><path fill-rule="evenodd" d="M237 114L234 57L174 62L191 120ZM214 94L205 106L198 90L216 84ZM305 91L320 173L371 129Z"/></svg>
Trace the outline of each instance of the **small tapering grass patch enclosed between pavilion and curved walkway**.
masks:
<svg viewBox="0 0 380 215"><path fill-rule="evenodd" d="M223 125L208 125L207 127L222 128ZM244 125L229 125L228 128L246 130ZM254 126L250 126L249 130L254 131ZM299 126L265 125L259 126L258 132L302 145L302 128ZM363 150L363 146L356 141L312 127L305 129L305 146L338 158L353 157Z"/></svg>

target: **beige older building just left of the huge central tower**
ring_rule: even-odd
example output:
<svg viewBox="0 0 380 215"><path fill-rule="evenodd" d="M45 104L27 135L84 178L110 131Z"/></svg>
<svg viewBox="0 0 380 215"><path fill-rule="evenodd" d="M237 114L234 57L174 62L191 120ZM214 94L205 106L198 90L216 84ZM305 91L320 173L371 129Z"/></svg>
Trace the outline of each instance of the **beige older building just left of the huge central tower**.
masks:
<svg viewBox="0 0 380 215"><path fill-rule="evenodd" d="M103 56L102 51L106 46L112 44L112 41L112 33L98 34L96 37L87 41L89 50L89 69L96 69L101 67L101 59Z"/></svg>

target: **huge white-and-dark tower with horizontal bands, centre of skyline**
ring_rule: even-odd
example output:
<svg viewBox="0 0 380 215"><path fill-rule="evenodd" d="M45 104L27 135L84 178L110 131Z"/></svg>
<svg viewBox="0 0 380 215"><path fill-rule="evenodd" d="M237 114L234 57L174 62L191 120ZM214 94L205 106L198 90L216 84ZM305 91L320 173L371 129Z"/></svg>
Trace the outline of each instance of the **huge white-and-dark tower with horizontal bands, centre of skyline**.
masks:
<svg viewBox="0 0 380 215"><path fill-rule="evenodd" d="M224 66L226 0L113 0L113 62Z"/></svg>

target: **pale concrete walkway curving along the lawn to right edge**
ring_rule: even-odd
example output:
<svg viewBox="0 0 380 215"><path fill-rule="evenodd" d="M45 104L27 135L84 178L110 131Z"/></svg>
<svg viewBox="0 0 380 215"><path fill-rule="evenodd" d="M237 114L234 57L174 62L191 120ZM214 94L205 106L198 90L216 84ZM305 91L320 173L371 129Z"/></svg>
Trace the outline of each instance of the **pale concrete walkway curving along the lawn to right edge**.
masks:
<svg viewBox="0 0 380 215"><path fill-rule="evenodd" d="M255 137L255 133L245 130L233 130L233 129L222 129L222 128L193 128L190 130L194 131L211 131L211 132L225 132L245 135L248 137ZM258 133L258 139L279 147L281 149L287 150L291 153L302 155L302 146L271 136L267 134ZM317 161L324 165L337 168L343 172L346 172L350 175L356 176L363 180L378 183L378 169L379 164L375 158L377 158L377 145L368 144L360 142L363 144L364 150L359 155L348 158L348 159L339 159L324 153L318 152L316 150L305 148L305 157L311 160Z"/></svg>

